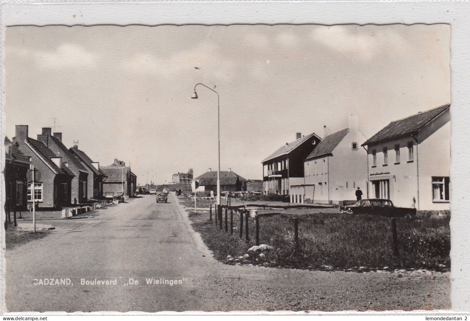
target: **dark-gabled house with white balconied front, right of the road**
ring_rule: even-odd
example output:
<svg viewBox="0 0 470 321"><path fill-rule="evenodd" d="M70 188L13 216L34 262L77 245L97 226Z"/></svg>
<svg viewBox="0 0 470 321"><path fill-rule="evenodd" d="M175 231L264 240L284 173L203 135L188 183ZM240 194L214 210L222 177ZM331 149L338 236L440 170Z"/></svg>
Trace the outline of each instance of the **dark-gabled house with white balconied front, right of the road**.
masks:
<svg viewBox="0 0 470 321"><path fill-rule="evenodd" d="M263 164L263 193L290 195L292 185L304 184L304 160L320 143L321 138L312 133L284 144L266 157Z"/></svg>

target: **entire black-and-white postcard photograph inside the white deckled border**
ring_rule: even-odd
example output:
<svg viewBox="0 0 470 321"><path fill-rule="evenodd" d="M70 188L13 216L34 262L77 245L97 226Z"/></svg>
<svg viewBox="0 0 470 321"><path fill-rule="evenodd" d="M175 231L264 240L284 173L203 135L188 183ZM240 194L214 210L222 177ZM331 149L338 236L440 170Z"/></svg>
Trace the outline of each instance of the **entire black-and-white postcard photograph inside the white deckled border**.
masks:
<svg viewBox="0 0 470 321"><path fill-rule="evenodd" d="M5 312L451 309L449 24L5 29Z"/></svg>

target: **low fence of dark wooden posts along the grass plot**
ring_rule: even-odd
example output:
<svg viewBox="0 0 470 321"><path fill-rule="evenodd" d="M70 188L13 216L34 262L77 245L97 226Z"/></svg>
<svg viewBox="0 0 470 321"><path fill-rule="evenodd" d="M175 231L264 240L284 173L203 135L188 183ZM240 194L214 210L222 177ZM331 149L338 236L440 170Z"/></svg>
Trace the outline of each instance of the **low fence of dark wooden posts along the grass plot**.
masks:
<svg viewBox="0 0 470 321"><path fill-rule="evenodd" d="M259 207L259 205L251 204L251 205L245 205L246 207ZM260 230L260 224L259 220L260 217L271 217L274 215L281 215L282 213L262 213L258 214L256 209L246 209L245 206L225 206L225 205L214 205L210 204L209 206L209 222L213 223L215 227L218 227L220 230L225 230L227 234L230 236L233 236L234 233L234 224L236 224L234 220L236 217L238 218L238 237L240 239L243 239L247 242L250 243L252 240L250 240L250 228L253 228L252 224L254 223L254 228L255 228L255 240L254 244L259 245L260 244L260 239L259 239L259 230ZM296 206L266 206L270 208L280 208L280 209L285 209L285 208L311 208L311 206L302 206L302 205L296 205ZM265 207L265 208L266 208ZM319 208L322 208L321 206ZM225 215L224 215L225 212ZM253 218L251 221L251 226L250 226L250 220L249 218ZM254 222L253 222L254 221ZM398 235L397 235L397 220L396 218L392 217L391 218L391 232L392 232L392 250L393 250L393 255L394 256L399 256L399 240L398 240ZM292 220L290 221L290 224L292 226L293 234L294 234L294 251L298 251L299 248L299 234L298 234L298 228L299 228L299 219L298 217L292 217Z"/></svg>

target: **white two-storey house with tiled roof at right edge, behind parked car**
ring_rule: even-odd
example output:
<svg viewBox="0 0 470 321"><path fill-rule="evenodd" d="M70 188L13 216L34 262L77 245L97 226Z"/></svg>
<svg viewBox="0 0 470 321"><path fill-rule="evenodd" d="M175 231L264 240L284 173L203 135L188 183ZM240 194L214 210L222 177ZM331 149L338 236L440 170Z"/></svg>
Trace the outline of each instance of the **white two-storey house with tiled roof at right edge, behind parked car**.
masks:
<svg viewBox="0 0 470 321"><path fill-rule="evenodd" d="M396 206L448 210L450 105L392 121L369 138L369 197Z"/></svg>

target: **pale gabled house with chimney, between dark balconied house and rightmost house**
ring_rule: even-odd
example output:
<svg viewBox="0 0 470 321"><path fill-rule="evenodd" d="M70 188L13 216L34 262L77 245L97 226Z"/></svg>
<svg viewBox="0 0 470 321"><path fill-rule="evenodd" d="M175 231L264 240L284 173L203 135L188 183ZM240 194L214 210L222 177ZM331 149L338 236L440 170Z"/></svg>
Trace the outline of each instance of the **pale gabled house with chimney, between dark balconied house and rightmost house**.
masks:
<svg viewBox="0 0 470 321"><path fill-rule="evenodd" d="M305 158L305 183L294 187L293 203L342 205L356 200L358 187L366 195L367 152L360 146L366 137L358 128L357 116L350 116L349 128L326 134Z"/></svg>

